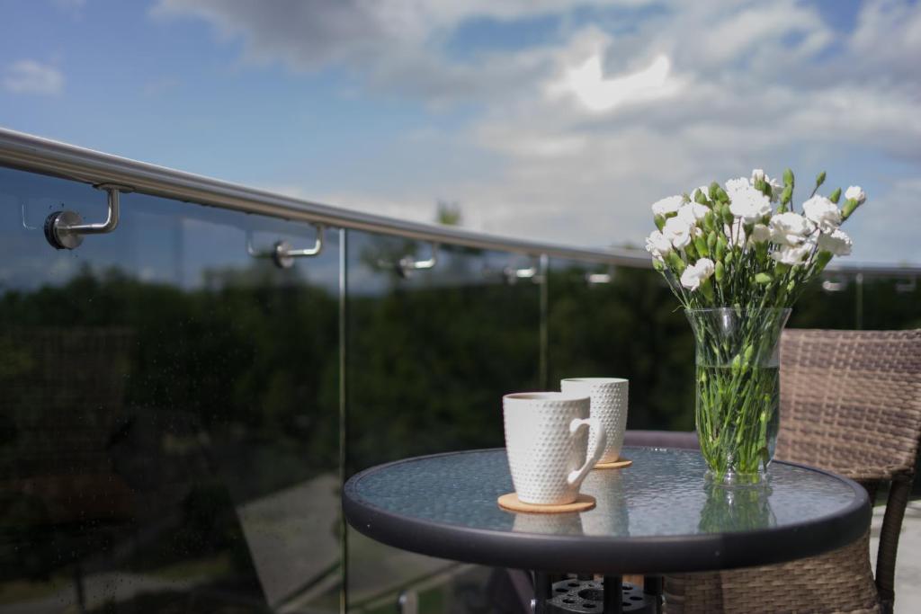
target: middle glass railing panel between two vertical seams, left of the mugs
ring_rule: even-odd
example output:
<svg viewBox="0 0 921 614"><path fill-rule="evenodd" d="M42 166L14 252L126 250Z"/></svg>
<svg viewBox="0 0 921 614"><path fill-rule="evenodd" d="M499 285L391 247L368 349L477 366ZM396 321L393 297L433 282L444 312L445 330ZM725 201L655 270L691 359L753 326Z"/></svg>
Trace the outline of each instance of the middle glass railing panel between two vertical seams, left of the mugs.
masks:
<svg viewBox="0 0 921 614"><path fill-rule="evenodd" d="M349 232L348 473L415 455L502 446L503 394L538 386L540 285L528 258ZM501 573L348 534L349 611L495 612ZM501 591L495 591L499 593ZM450 606L448 606L450 604Z"/></svg>

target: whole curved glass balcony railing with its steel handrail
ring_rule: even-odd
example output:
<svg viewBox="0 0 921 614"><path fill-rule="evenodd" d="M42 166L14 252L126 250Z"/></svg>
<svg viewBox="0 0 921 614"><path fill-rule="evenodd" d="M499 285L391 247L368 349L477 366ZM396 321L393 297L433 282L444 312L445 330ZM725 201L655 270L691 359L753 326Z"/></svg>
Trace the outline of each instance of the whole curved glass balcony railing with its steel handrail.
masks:
<svg viewBox="0 0 921 614"><path fill-rule="evenodd" d="M100 182L134 189L118 226L52 249L49 214L107 217ZM279 266L275 246L314 248L314 224L320 253ZM495 612L494 570L346 531L344 479L500 446L500 396L561 377L629 377L631 428L693 427L690 328L645 254L359 215L6 131L0 246L0 614ZM918 272L829 272L790 326L921 327Z"/></svg>

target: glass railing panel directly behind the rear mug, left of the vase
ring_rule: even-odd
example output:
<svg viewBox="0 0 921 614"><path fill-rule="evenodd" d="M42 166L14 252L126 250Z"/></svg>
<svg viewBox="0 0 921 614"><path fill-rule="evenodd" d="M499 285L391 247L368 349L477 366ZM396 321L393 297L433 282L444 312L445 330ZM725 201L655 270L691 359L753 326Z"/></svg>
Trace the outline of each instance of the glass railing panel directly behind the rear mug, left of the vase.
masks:
<svg viewBox="0 0 921 614"><path fill-rule="evenodd" d="M652 269L550 261L549 386L630 380L629 429L694 429L694 337Z"/></svg>

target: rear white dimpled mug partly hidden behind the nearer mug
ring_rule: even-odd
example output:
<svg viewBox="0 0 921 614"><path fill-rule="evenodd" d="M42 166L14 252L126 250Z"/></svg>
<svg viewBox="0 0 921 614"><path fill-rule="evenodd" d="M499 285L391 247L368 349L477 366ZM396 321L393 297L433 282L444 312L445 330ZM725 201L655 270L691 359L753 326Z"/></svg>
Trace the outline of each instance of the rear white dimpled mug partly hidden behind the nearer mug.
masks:
<svg viewBox="0 0 921 614"><path fill-rule="evenodd" d="M628 388L629 382L623 377L569 377L560 381L565 394L591 399L589 416L600 420L607 434L599 462L612 463L621 457L627 428ZM592 452L594 449L589 445L589 454Z"/></svg>

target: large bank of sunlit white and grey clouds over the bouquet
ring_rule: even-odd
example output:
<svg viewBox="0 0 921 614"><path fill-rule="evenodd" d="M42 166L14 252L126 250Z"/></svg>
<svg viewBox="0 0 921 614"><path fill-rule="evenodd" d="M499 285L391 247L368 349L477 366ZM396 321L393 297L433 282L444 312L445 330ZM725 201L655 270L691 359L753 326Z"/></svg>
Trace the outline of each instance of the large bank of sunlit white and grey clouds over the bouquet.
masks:
<svg viewBox="0 0 921 614"><path fill-rule="evenodd" d="M574 17L586 4L599 16L591 23ZM436 198L447 197L474 228L598 246L641 242L648 203L755 167L851 169L878 181L871 187L886 211L902 215L917 201L917 186L904 181L921 175L921 5L865 3L843 30L799 0L636 10L652 4L159 0L153 14L204 19L257 64L344 67L369 97L476 103L479 112L442 138L474 152L466 155L496 156L489 176L455 174L438 194L363 190L356 180L330 194L332 203L430 221ZM462 59L448 51L452 33L473 19L538 16L558 17L540 44L472 49ZM868 158L875 168L862 166ZM380 172L423 186L436 174L398 164L381 160ZM880 180L879 168L895 176ZM921 260L910 237L893 244L880 230L865 239L865 228L855 220L859 258L901 250Z"/></svg>

